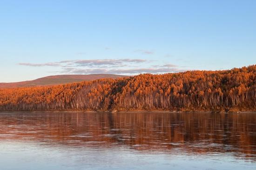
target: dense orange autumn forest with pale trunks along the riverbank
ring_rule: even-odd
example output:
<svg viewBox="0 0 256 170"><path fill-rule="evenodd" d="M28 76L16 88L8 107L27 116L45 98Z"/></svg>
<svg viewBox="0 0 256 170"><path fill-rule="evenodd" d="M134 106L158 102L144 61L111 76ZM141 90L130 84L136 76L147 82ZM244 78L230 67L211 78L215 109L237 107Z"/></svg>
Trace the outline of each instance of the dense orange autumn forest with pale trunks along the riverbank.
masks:
<svg viewBox="0 0 256 170"><path fill-rule="evenodd" d="M256 65L0 89L0 111L256 111Z"/></svg>

